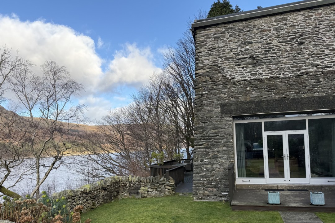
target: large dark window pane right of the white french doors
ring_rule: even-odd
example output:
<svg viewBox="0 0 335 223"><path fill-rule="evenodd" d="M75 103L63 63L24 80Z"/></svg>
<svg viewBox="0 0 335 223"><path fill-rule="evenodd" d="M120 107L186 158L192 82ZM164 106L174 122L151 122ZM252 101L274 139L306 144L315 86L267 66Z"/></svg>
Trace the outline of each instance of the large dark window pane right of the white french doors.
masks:
<svg viewBox="0 0 335 223"><path fill-rule="evenodd" d="M308 120L311 177L335 177L335 118Z"/></svg>

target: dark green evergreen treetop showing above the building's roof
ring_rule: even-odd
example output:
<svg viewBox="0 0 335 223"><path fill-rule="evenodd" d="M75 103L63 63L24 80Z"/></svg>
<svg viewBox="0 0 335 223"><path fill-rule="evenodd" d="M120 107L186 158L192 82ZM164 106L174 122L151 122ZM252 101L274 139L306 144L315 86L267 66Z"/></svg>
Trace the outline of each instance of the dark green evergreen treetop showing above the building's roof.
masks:
<svg viewBox="0 0 335 223"><path fill-rule="evenodd" d="M241 8L236 5L235 8L232 7L228 0L217 0L214 2L208 12L207 18L216 17L220 15L227 15L231 13L241 12Z"/></svg>

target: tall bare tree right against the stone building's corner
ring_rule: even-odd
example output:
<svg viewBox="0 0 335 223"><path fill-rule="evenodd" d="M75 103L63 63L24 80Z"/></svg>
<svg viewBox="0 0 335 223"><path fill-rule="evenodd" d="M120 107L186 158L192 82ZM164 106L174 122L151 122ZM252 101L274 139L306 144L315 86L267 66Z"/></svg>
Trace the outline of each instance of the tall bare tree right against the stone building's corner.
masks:
<svg viewBox="0 0 335 223"><path fill-rule="evenodd" d="M194 17L202 19L206 14L199 10ZM191 23L190 19L189 27ZM190 30L185 31L176 46L170 46L164 54L164 72L169 78L165 83L166 112L172 114L176 133L183 137L187 158L191 158L194 146L195 42Z"/></svg>

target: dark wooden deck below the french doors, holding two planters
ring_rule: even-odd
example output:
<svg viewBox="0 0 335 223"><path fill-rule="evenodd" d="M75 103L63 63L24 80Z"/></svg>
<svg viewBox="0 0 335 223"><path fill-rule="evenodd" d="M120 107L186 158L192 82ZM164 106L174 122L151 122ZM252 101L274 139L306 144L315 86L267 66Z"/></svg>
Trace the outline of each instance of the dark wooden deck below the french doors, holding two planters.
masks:
<svg viewBox="0 0 335 223"><path fill-rule="evenodd" d="M233 195L233 210L256 211L313 211L335 212L335 190L322 190L325 194L324 206L310 205L309 191L279 191L279 205L267 204L268 193L265 190L237 189Z"/></svg>

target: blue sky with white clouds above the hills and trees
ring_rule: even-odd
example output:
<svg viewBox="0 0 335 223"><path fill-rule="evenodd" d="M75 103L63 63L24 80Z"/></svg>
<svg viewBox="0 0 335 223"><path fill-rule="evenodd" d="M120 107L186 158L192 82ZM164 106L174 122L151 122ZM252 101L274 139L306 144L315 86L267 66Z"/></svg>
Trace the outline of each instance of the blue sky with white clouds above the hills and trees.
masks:
<svg viewBox="0 0 335 223"><path fill-rule="evenodd" d="M199 9L213 0L171 1L2 1L0 43L19 49L37 66L65 65L85 92L75 102L99 119L127 105L130 95L162 69L162 53L187 30ZM230 1L244 11L290 0ZM7 97L11 97L8 95Z"/></svg>

